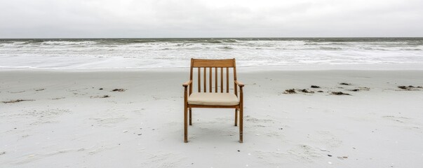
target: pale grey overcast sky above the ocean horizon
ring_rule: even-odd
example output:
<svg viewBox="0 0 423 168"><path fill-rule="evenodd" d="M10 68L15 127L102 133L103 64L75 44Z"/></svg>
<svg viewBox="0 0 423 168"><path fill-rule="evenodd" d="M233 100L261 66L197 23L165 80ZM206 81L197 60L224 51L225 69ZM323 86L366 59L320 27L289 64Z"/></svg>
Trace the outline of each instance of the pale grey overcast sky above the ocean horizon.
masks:
<svg viewBox="0 0 423 168"><path fill-rule="evenodd" d="M0 0L0 38L423 36L422 0Z"/></svg>

